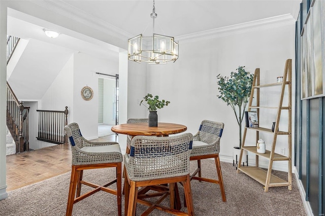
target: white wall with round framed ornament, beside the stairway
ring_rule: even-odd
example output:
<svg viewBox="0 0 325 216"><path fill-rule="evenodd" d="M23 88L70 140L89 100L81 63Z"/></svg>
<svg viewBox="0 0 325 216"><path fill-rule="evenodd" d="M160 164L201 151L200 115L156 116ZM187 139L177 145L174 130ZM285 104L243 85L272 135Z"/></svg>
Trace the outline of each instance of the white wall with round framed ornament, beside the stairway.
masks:
<svg viewBox="0 0 325 216"><path fill-rule="evenodd" d="M107 60L80 52L73 54L44 94L39 109L63 111L68 106L68 123L77 122L85 138L98 138L98 77L94 73L107 71L118 71L118 56ZM82 99L84 86L93 90L91 100ZM43 142L35 149L38 147L44 147Z"/></svg>

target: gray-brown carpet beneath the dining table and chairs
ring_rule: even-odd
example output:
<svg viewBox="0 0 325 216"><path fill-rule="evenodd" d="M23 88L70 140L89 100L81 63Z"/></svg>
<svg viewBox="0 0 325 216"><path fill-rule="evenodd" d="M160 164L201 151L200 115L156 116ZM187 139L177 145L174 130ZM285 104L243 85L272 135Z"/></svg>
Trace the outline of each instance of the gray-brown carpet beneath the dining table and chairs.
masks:
<svg viewBox="0 0 325 216"><path fill-rule="evenodd" d="M202 166L205 170L203 175L216 176L214 161L203 160ZM293 179L291 191L287 190L287 187L276 187L270 188L269 192L265 193L261 184L243 173L237 174L232 164L221 162L221 168L227 202L222 202L218 185L192 181L196 215L306 215L296 179ZM86 170L84 179L104 183L105 178L113 173L113 169ZM284 172L276 171L276 173L284 178L287 176ZM0 215L65 215L70 174L68 172L8 192L9 197L0 200ZM183 190L181 187L179 189L183 202ZM186 211L186 208L182 208L184 209ZM137 205L137 215L144 210L144 206ZM124 214L124 197L122 197L122 214ZM73 215L117 215L116 197L98 192L76 203ZM150 215L169 214L155 210Z"/></svg>

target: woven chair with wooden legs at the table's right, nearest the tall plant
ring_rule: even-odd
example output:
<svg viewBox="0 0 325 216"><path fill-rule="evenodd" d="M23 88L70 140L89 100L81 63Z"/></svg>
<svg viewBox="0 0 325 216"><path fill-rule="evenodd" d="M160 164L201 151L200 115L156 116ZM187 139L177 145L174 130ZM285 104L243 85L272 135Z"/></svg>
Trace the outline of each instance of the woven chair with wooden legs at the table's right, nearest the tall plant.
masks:
<svg viewBox="0 0 325 216"><path fill-rule="evenodd" d="M222 201L225 202L226 198L219 159L220 138L222 135L223 126L224 124L221 122L213 122L208 120L203 120L201 122L199 131L193 135L193 145L190 154L191 161L198 161L198 168L191 174L190 179L197 179L200 182L204 181L219 184ZM218 180L202 177L201 160L208 158L214 158ZM197 176L198 173L199 176Z"/></svg>

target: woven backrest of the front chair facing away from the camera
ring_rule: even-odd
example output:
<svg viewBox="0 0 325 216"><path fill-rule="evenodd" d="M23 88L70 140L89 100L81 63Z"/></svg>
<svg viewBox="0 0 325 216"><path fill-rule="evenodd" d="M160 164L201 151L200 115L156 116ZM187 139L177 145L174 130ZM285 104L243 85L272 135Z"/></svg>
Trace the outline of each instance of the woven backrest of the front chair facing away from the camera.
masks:
<svg viewBox="0 0 325 216"><path fill-rule="evenodd" d="M133 181L182 176L189 173L189 155L193 136L135 136L131 154L125 162Z"/></svg>

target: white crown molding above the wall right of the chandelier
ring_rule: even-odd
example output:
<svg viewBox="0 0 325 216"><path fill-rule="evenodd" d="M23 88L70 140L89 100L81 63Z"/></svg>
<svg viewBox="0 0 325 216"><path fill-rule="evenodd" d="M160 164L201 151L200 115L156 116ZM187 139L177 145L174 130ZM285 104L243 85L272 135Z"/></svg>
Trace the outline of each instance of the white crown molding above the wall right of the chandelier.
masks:
<svg viewBox="0 0 325 216"><path fill-rule="evenodd" d="M291 14L280 15L276 17L270 17L260 20L255 20L251 22L245 22L236 25L225 26L221 28L215 28L206 31L200 31L196 33L181 35L175 37L176 41L181 41L182 43L191 43L198 40L208 40L219 37L226 37L229 35L245 33L249 31L254 31L258 29L266 29L271 27L285 26L295 24L296 20Z"/></svg>

